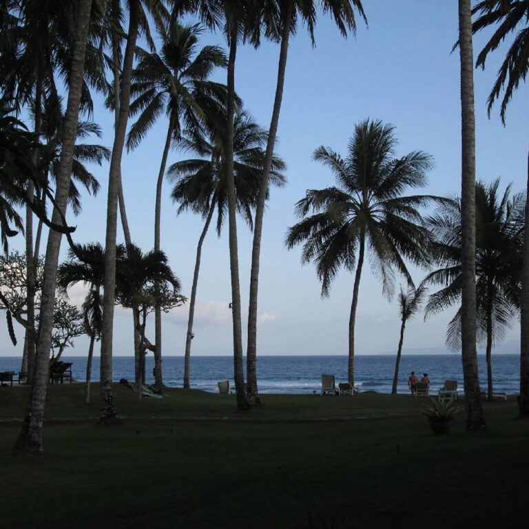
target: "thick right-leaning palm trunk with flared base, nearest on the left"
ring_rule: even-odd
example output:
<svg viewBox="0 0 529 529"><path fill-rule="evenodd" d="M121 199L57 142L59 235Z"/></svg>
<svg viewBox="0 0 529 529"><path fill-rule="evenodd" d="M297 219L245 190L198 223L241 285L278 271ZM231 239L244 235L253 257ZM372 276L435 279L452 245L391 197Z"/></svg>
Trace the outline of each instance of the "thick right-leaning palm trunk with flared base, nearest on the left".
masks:
<svg viewBox="0 0 529 529"><path fill-rule="evenodd" d="M77 2L77 31L72 54L68 105L64 119L61 162L59 164L59 174L57 174L55 192L56 207L54 207L52 214L52 222L58 225L62 224L61 214L65 214L68 203L91 6L92 0L79 0ZM15 444L15 448L19 450L43 450L44 406L46 389L48 387L49 354L52 340L53 309L61 238L62 234L50 229L44 263L37 363L21 432Z"/></svg>

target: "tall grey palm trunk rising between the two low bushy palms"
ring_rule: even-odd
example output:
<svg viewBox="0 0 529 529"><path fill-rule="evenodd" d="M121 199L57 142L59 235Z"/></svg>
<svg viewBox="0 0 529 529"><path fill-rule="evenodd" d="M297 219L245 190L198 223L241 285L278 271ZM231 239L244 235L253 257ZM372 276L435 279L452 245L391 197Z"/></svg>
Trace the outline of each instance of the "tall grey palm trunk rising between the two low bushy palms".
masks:
<svg viewBox="0 0 529 529"><path fill-rule="evenodd" d="M112 395L112 337L114 326L114 292L116 290L116 231L118 187L121 175L121 156L125 145L125 132L129 118L130 80L134 49L138 36L138 0L129 3L129 32L125 57L123 59L123 90L114 135L107 197L107 234L105 238L105 284L103 295L103 322L101 325L101 413L100 421L113 422L116 419Z"/></svg>

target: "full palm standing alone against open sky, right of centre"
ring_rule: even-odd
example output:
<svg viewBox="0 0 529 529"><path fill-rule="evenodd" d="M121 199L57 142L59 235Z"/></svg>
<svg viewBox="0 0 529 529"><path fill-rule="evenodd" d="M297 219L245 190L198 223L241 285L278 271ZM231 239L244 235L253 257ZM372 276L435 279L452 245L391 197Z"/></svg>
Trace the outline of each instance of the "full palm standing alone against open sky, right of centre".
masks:
<svg viewBox="0 0 529 529"><path fill-rule="evenodd" d="M372 266L382 278L383 292L391 297L395 271L413 280L403 258L424 266L428 262L427 232L417 207L435 196L403 196L406 188L424 187L432 158L421 151L393 158L397 140L393 125L382 121L362 121L349 140L348 156L318 147L314 159L335 175L337 186L308 189L296 204L303 218L287 233L289 249L304 242L302 262L315 261L322 282L322 296L329 289L340 267L356 267L353 302L349 318L348 379L354 384L355 316L360 276L366 249ZM313 215L308 216L309 211Z"/></svg>

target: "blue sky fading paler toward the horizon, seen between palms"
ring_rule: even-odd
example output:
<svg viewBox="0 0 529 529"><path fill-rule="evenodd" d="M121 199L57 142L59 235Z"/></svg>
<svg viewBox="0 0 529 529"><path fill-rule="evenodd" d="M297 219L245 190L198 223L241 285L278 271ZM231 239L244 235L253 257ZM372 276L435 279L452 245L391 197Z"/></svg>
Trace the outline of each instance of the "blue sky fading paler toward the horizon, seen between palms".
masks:
<svg viewBox="0 0 529 529"><path fill-rule="evenodd" d="M344 40L329 17L320 15L315 31L316 48L311 48L307 32L299 28L291 41L278 129L276 153L287 163L289 180L283 189L271 191L264 218L262 238L258 354L347 353L349 309L353 275L341 271L329 298L320 298L320 283L313 264L302 267L301 249L287 251L284 235L297 222L296 201L309 188L333 185L329 170L312 160L314 150L329 146L346 155L346 145L354 125L365 118L395 125L400 141L397 156L423 150L435 158L425 193L455 195L460 192L461 139L459 101L459 54L450 54L457 40L457 1L445 0L364 0L369 28L360 19L355 38ZM475 38L475 56L490 37L482 32ZM225 46L222 34L204 34L204 43ZM510 41L507 45L510 44ZM486 112L486 98L507 46L492 54L486 70L475 70L475 112L477 178L490 183L501 178L501 189L512 183L512 191L526 187L528 87L520 85L508 108L507 125L499 118L499 104ZM276 87L278 45L263 43L253 50L241 46L236 63L236 90L262 127L268 127ZM216 80L225 81L218 72ZM94 121L104 130L103 143L112 147L113 116L96 98ZM129 124L132 123L129 121ZM127 214L134 242L144 251L154 245L154 196L156 176L165 141L167 122L160 118L156 127L136 151L124 154L123 185ZM169 163L183 159L173 151ZM77 225L78 242L105 240L108 165L94 167L101 183L96 198L83 196L83 211L70 223ZM162 249L169 257L176 276L189 295L194 269L196 243L203 221L192 214L176 216L169 199L171 184L165 180L162 211ZM240 284L243 329L247 322L251 234L238 221ZM123 240L118 228L118 242ZM21 236L10 240L12 249L23 251ZM62 255L65 255L63 242ZM419 282L424 271L415 270ZM395 290L402 282L397 278ZM71 298L78 304L83 290L76 288ZM232 351L229 251L227 227L218 239L211 229L203 248L191 355L229 355ZM408 323L404 349L444 346L446 324L457 307L423 321L422 315ZM152 316L154 320L154 316ZM154 342L154 324L148 332ZM0 355L21 355L23 331L16 326L19 345L12 346L6 321L0 318L3 346ZM187 307L175 309L163 320L163 354L183 355L187 327ZM400 320L396 299L388 302L382 287L364 267L357 309L357 354L396 351ZM514 322L506 340L518 340L519 324ZM246 333L244 333L246 344ZM245 345L246 348L246 345ZM514 352L514 351L513 351ZM65 355L86 355L87 340L76 340L74 351ZM99 346L96 347L96 354ZM116 308L114 354L133 355L132 316Z"/></svg>

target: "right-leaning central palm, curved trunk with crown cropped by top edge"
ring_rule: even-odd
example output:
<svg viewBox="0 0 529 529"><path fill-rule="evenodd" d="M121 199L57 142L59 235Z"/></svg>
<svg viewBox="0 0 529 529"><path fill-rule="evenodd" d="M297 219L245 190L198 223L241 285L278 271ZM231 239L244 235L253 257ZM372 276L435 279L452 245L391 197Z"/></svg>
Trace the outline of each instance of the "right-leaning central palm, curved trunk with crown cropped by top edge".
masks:
<svg viewBox="0 0 529 529"><path fill-rule="evenodd" d="M279 114L284 86L284 72L287 68L289 37L295 32L296 20L302 19L307 23L311 39L314 41L313 28L315 25L315 3L316 2L314 1L307 2L299 0L288 0L279 3L275 1L267 1L264 2L265 6L262 12L262 18L268 36L275 41L280 40L280 54L276 96L273 102L267 143L267 155L264 159L262 180L256 208L256 227L253 231L253 247L251 254L250 297L248 310L247 386L249 400L251 403L256 404L259 402L257 387L257 310L264 204L268 193L271 160L279 124ZM322 0L318 3L324 12L331 12L331 15L335 19L335 22L344 37L347 36L348 30L353 33L356 30L355 9L364 20L366 20L364 8L362 7L362 2L360 0Z"/></svg>

